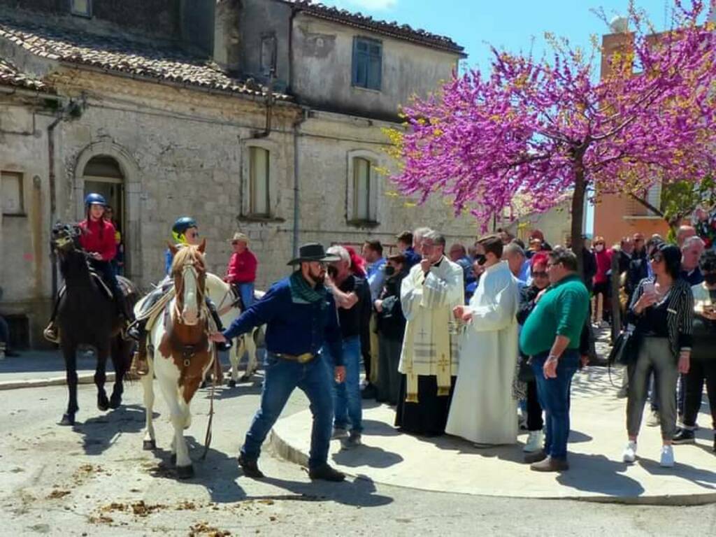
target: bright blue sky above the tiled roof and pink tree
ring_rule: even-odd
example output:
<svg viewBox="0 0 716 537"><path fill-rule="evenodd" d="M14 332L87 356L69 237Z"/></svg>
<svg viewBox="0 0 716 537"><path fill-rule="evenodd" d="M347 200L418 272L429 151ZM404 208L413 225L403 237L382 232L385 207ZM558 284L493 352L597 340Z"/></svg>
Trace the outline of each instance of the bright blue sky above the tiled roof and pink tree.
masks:
<svg viewBox="0 0 716 537"><path fill-rule="evenodd" d="M447 35L465 47L470 67L488 69L490 44L511 52L538 55L546 48L544 32L566 37L585 49L590 35L609 33L590 8L604 8L611 19L624 14L627 0L323 0L324 4L360 11ZM637 0L657 29L663 29L667 0ZM672 5L672 1L668 1ZM533 39L534 38L534 39Z"/></svg>

